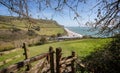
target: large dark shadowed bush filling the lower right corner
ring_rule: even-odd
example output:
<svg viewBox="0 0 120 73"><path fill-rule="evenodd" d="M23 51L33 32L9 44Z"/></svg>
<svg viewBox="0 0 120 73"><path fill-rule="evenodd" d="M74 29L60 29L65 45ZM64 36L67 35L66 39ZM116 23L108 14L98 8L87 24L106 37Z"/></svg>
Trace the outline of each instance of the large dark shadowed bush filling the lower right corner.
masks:
<svg viewBox="0 0 120 73"><path fill-rule="evenodd" d="M94 73L120 72L120 37L114 39L101 50L91 53L83 62L89 71Z"/></svg>

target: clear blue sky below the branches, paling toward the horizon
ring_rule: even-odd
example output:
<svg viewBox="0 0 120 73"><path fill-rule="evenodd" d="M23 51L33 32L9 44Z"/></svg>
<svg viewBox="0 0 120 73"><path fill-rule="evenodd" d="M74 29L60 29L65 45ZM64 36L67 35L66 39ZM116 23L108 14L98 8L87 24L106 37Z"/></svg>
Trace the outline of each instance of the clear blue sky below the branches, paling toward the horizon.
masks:
<svg viewBox="0 0 120 73"><path fill-rule="evenodd" d="M96 0L87 0L86 3L81 3L78 7L78 13L80 15L79 18L79 24L76 20L74 20L74 14L73 12L70 12L68 8L64 8L62 12L55 12L51 9L46 9L43 12L39 12L35 7L30 8L30 14L33 18L42 18L42 19L53 19L57 21L60 25L63 25L65 27L70 26L86 26L85 23L87 21L93 21L96 18L97 14L97 8L94 8L91 10L95 5L97 4ZM9 10L0 5L0 15L10 15ZM13 16L16 16L16 14L12 14Z"/></svg>

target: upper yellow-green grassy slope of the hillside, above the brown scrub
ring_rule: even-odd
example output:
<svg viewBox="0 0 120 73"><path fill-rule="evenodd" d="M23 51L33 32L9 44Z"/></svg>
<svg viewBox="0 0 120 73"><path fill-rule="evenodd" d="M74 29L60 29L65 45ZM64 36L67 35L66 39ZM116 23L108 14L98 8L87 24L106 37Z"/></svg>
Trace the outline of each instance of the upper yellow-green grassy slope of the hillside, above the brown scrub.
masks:
<svg viewBox="0 0 120 73"><path fill-rule="evenodd" d="M10 16L0 16L0 29L11 29L13 25L22 30L27 30L29 22L26 19L18 19ZM40 26L40 31L35 31L40 35L52 35L64 33L63 28L56 21L31 19L31 25Z"/></svg>

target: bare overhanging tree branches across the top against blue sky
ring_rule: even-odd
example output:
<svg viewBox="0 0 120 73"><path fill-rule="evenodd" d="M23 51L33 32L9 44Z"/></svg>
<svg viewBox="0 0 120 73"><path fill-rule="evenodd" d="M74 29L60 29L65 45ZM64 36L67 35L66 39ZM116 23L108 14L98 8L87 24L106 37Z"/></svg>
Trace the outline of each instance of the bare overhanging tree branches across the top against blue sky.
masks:
<svg viewBox="0 0 120 73"><path fill-rule="evenodd" d="M80 17L78 12L80 3L87 2L87 0L0 0L0 4L28 19L30 18L29 2L36 2L36 6L38 6L38 10L40 11L48 8L62 12L67 7L74 13L73 17L77 20ZM92 9L95 7L99 7L99 9L98 18L95 19L96 23L93 26L101 28L101 33L110 33L114 29L119 29L120 0L98 0L98 3ZM79 23L79 20L77 22Z"/></svg>

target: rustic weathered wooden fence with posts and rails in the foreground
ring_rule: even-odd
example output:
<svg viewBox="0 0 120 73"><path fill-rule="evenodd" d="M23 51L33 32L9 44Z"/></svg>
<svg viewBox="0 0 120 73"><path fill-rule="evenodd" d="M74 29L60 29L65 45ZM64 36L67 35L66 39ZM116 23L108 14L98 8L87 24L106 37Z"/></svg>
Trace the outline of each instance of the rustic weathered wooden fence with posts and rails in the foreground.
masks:
<svg viewBox="0 0 120 73"><path fill-rule="evenodd" d="M77 64L82 69L81 73L84 72L84 65L78 62L73 51L70 56L62 57L61 48L56 48L54 51L53 47L50 47L49 52L29 58L29 50L25 43L23 48L25 60L0 70L0 73L17 73L23 68L25 70L20 73L76 73Z"/></svg>

